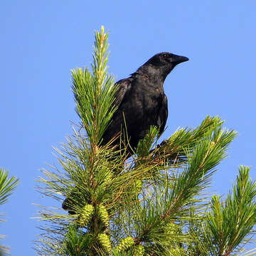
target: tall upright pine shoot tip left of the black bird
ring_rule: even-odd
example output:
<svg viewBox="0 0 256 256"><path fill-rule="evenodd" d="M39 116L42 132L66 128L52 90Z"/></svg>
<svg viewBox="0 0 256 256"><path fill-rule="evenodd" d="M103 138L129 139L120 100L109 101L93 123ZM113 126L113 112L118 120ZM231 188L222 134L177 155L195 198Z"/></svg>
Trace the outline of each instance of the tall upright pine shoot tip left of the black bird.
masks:
<svg viewBox="0 0 256 256"><path fill-rule="evenodd" d="M77 112L91 147L100 142L115 110L113 107L116 92L113 87L114 79L112 75L107 74L107 39L108 34L102 26L100 32L95 32L92 73L87 68L72 70L72 88Z"/></svg>

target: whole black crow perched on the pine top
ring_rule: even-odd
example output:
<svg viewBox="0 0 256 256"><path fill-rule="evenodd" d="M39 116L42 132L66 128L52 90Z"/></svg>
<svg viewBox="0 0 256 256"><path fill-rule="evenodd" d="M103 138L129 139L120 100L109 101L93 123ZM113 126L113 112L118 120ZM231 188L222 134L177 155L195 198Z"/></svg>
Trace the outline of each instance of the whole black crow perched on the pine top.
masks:
<svg viewBox="0 0 256 256"><path fill-rule="evenodd" d="M164 94L164 80L179 63L188 58L172 53L158 53L138 68L129 78L119 80L116 100L116 112L112 122L102 136L102 145L119 134L124 127L129 139L129 153L136 149L151 125L164 132L168 116L167 97ZM125 124L124 124L125 119ZM117 139L112 145L119 144Z"/></svg>

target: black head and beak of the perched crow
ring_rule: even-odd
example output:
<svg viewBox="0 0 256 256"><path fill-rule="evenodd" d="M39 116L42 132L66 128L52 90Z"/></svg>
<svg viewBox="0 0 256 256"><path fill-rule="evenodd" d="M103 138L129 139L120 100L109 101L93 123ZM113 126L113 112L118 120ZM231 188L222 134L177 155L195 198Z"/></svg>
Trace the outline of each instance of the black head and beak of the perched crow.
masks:
<svg viewBox="0 0 256 256"><path fill-rule="evenodd" d="M146 68L150 72L153 73L161 73L164 75L164 79L166 76L174 69L176 65L179 63L183 63L188 61L188 58L184 56L175 55L173 53L157 53L152 58L150 58L142 67ZM144 69L143 68L143 69Z"/></svg>

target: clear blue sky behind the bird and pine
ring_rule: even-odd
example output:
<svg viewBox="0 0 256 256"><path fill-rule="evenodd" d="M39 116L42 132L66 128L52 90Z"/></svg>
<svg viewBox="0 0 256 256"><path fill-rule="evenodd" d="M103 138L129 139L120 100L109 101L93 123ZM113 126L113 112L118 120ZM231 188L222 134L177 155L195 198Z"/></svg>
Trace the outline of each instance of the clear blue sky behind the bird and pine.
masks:
<svg viewBox="0 0 256 256"><path fill-rule="evenodd" d="M93 4L95 3L95 4ZM155 53L190 58L165 82L167 138L177 127L196 127L219 115L239 132L213 177L225 196L238 166L255 174L256 2L217 1L7 1L0 4L0 166L21 183L0 212L0 233L14 256L31 248L37 207L52 205L36 192L39 169L56 163L52 146L78 121L70 69L90 65L94 31L110 32L110 73L126 78Z"/></svg>

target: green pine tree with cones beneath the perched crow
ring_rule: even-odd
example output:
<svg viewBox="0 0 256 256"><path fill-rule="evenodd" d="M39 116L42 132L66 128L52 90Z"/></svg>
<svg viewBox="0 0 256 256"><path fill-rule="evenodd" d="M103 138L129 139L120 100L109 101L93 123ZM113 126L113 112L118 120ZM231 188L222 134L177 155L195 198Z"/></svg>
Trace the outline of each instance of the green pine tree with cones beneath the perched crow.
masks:
<svg viewBox="0 0 256 256"><path fill-rule="evenodd" d="M107 39L104 27L95 32L92 72L72 71L81 122L55 149L59 165L44 169L38 181L41 193L59 205L69 198L74 214L41 206L38 255L238 255L256 223L249 168L240 166L225 200L206 193L236 132L223 128L219 117L206 117L160 145L151 127L128 159L125 148L101 146L115 111Z"/></svg>

